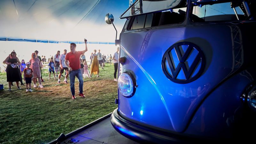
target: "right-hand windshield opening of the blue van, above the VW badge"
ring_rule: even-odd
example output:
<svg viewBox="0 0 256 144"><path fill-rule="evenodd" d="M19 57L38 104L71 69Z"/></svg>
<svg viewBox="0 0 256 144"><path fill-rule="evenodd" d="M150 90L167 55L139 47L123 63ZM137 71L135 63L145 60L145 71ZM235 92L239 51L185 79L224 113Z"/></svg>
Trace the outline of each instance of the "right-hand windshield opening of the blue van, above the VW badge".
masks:
<svg viewBox="0 0 256 144"><path fill-rule="evenodd" d="M212 0L197 1L192 5L191 18L193 22L254 19L255 3L247 0L219 0L218 3L212 3Z"/></svg>

